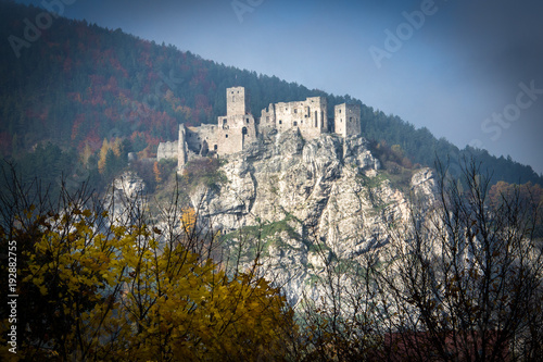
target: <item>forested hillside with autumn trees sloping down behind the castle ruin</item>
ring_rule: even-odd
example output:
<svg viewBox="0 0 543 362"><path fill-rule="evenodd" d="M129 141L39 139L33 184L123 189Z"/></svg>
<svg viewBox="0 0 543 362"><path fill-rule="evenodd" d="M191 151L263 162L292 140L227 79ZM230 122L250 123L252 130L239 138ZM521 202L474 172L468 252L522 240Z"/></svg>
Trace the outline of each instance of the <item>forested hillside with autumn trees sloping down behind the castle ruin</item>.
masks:
<svg viewBox="0 0 543 362"><path fill-rule="evenodd" d="M12 1L0 7L0 153L17 161L25 175L48 180L79 165L97 179L111 177L126 165L128 152L154 157L160 141L177 138L179 123L215 122L226 110L225 89L244 86L256 116L270 102L312 96L327 97L329 116L336 104L359 102L364 136L381 149L393 148L408 167L433 165L435 155L453 165L476 155L494 183L543 184L530 166L459 150L350 96L225 66L85 21L59 17L39 29L42 9Z"/></svg>

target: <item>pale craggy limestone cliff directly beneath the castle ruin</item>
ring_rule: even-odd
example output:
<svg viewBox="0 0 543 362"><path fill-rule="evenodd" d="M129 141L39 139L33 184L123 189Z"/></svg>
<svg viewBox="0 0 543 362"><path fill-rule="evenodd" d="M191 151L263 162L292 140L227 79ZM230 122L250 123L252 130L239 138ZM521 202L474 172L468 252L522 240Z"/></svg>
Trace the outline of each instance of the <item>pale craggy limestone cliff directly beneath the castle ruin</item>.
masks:
<svg viewBox="0 0 543 362"><path fill-rule="evenodd" d="M222 166L228 182L191 200L225 233L260 227L252 242L263 246L266 276L295 304L302 292L319 295L312 280L328 261L356 261L387 244L391 221L408 219L408 196L379 168L363 137L305 141L294 130L277 133L229 155ZM411 191L430 198L434 184L424 168Z"/></svg>

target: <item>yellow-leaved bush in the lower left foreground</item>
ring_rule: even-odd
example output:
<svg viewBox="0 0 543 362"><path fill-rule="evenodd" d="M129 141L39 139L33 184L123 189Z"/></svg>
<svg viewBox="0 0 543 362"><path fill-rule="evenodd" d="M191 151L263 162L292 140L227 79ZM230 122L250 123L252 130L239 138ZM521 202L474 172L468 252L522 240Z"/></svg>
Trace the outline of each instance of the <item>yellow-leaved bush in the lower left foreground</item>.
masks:
<svg viewBox="0 0 543 362"><path fill-rule="evenodd" d="M18 346L28 360L279 360L292 310L254 272L165 241L156 227L115 225L108 212L27 215L17 240ZM185 215L192 220L193 214ZM193 228L193 224L190 224ZM185 235L186 234L180 234ZM4 271L2 271L3 273ZM10 328L1 324L3 340ZM4 357L13 357L3 347Z"/></svg>

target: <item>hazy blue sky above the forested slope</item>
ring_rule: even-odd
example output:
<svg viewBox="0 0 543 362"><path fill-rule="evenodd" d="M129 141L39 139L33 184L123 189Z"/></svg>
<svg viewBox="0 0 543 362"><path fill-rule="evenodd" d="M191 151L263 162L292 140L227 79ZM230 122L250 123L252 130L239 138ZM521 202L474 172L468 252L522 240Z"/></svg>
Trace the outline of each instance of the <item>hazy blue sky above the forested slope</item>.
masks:
<svg viewBox="0 0 543 362"><path fill-rule="evenodd" d="M334 95L543 173L543 1L33 0Z"/></svg>

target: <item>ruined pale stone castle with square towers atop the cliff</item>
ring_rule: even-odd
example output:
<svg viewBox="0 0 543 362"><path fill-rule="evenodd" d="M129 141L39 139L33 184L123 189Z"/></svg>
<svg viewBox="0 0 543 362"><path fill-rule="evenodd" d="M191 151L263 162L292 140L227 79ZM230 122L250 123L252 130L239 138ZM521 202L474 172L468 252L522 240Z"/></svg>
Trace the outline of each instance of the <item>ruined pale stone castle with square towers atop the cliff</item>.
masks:
<svg viewBox="0 0 543 362"><path fill-rule="evenodd" d="M298 129L303 138L313 139L331 128L325 97L310 97L304 101L270 103L255 120L249 109L249 97L243 87L226 89L226 115L216 125L187 127L179 125L179 138L161 142L157 160L177 159L180 172L194 155L225 155L242 151L258 140L258 135ZM333 133L348 137L361 134L361 107L339 104L334 108Z"/></svg>

